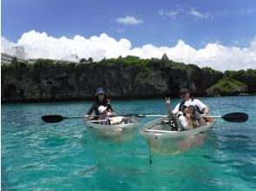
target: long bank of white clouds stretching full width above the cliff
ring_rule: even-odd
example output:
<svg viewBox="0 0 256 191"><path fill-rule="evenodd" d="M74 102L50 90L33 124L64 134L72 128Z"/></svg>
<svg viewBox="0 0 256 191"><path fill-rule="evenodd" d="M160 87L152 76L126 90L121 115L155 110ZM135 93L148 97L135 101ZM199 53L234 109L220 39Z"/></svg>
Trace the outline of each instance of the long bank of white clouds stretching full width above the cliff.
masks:
<svg viewBox="0 0 256 191"><path fill-rule="evenodd" d="M13 45L24 46L26 53L32 58L68 59L71 54L79 58L92 57L100 61L104 57L117 58L118 56L139 56L141 58L161 58L164 53L175 62L194 63L199 67L211 67L220 71L227 69L255 69L256 68L256 37L247 48L238 46L224 46L220 43L206 43L203 49L194 49L192 46L179 40L173 47L156 47L145 44L142 47L131 48L131 42L127 39L117 41L111 36L65 36L55 38L45 32L39 33L31 30L24 33L17 43L11 43L1 38L1 49L10 48Z"/></svg>

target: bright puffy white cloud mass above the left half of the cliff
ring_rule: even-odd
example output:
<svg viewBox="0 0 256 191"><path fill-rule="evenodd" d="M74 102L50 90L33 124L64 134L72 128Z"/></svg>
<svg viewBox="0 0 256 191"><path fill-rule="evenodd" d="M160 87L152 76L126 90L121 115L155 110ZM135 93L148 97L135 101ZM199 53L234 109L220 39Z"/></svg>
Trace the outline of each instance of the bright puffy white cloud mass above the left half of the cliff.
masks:
<svg viewBox="0 0 256 191"><path fill-rule="evenodd" d="M71 54L75 54L80 58L93 57L99 61L104 57L117 57L131 49L128 40L116 41L106 34L91 36L88 39L84 36L74 36L71 39L65 36L55 38L35 30L24 33L18 44L24 46L29 57L50 59L68 59Z"/></svg>

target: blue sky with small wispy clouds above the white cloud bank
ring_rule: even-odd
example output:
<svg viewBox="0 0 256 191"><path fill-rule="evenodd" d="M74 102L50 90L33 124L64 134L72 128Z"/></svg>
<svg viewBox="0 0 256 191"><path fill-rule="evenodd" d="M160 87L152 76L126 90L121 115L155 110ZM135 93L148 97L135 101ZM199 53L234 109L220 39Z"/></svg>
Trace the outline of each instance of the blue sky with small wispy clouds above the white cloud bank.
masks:
<svg viewBox="0 0 256 191"><path fill-rule="evenodd" d="M48 38L72 40L106 34L117 42L127 39L128 49L142 49L146 44L170 49L188 45L199 51L216 43L242 51L252 50L256 41L255 0L2 0L1 9L2 38L24 46L29 46L28 40L20 39L32 30ZM71 52L84 56L74 49ZM251 58L248 67L255 60Z"/></svg>

